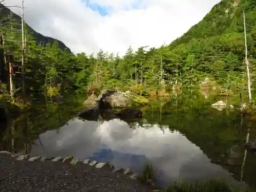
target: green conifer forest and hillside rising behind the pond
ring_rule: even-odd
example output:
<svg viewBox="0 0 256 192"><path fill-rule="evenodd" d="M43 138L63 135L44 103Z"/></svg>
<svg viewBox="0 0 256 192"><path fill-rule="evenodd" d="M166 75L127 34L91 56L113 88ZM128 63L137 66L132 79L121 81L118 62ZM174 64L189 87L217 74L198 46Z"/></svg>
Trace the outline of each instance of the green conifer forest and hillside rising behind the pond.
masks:
<svg viewBox="0 0 256 192"><path fill-rule="evenodd" d="M209 77L224 90L241 88L246 84L243 11L253 80L256 72L256 3L254 0L223 0L170 45L149 51L144 47L134 51L130 47L123 57L102 50L96 55L74 55L69 50L59 49L63 48L59 41L41 47L37 44L41 38L27 28L26 87L32 90L58 87L86 91L91 86L148 93L160 88L193 88L197 82ZM5 11L2 17L10 18L8 12ZM9 41L4 38L4 52L14 56L11 60L14 66L20 66L22 34L13 29L17 22L6 21L1 29L3 36L9 37ZM13 78L15 86L19 87L20 76ZM254 84L252 81L252 86Z"/></svg>

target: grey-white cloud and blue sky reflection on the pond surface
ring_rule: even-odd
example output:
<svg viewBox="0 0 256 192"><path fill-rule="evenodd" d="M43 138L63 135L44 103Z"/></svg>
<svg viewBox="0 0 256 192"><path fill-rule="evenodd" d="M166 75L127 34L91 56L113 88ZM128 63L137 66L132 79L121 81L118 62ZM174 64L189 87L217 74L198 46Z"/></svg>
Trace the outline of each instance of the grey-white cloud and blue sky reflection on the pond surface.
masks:
<svg viewBox="0 0 256 192"><path fill-rule="evenodd" d="M57 131L40 135L48 156L72 155L79 159L95 158L111 161L116 166L139 169L151 160L168 179L205 177L231 178L221 166L209 159L195 144L178 133L163 131L158 125L150 129L130 129L118 119L103 122L74 119ZM32 154L44 155L44 148L36 141ZM141 169L141 168L140 168Z"/></svg>

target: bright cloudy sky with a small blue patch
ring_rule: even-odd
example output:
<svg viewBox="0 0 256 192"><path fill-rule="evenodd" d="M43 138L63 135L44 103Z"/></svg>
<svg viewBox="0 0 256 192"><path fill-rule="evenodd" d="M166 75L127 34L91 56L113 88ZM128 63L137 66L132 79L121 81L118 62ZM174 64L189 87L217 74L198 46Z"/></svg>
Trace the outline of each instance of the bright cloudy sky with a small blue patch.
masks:
<svg viewBox="0 0 256 192"><path fill-rule="evenodd" d="M22 0L5 0L20 6ZM123 55L129 46L169 44L221 0L24 0L25 20L74 53L98 49ZM20 14L20 9L12 8Z"/></svg>

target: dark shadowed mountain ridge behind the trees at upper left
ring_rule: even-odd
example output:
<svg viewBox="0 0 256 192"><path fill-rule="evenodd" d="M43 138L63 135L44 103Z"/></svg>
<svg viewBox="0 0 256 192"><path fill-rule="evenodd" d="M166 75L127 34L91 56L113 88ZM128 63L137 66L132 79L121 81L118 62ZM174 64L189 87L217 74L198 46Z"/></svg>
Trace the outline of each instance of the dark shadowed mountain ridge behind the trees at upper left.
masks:
<svg viewBox="0 0 256 192"><path fill-rule="evenodd" d="M4 5L0 4L0 17L2 18L2 20L5 20L3 18L7 18L10 15L10 13L12 14L12 18L16 20L16 23L20 24L19 26L21 26L22 18L20 16L18 16L17 14L13 13L10 9L5 7ZM55 40L57 40L57 39L47 37L47 36L44 36L44 35L36 32L28 25L26 25L26 27L27 27L28 31L30 32L30 34L36 39L36 42L38 44L42 44L43 42L44 42L44 44L47 44L48 42L50 44L53 44L53 42ZM71 50L62 41L57 40L57 42L58 42L58 46L60 49L62 49L62 50L66 49L69 53L71 53Z"/></svg>

